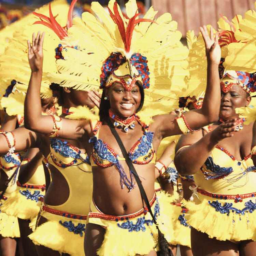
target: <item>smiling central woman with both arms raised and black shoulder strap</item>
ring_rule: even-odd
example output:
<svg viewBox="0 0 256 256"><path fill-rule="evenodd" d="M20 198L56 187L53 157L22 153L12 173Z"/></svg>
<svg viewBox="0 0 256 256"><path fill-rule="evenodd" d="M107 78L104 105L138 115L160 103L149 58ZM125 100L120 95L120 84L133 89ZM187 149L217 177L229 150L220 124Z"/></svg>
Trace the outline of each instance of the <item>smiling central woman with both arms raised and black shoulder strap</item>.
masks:
<svg viewBox="0 0 256 256"><path fill-rule="evenodd" d="M109 22L110 30L108 30L108 26L102 26L102 23L95 19L93 15L83 14L82 17L85 23L81 23L79 20L74 21L70 30L70 38L68 38L69 40L66 39L67 46L65 46L65 51L62 51L64 60L57 61L60 74L52 74L52 82L62 79L62 81L58 81L62 86L65 86L65 84L79 85L83 78L85 79L83 83L87 87L85 89L93 87L93 85L97 87L101 84L104 91L100 104L100 120L97 122L89 122L86 119L60 120L59 118L41 115L37 103L40 97L42 79L43 35L40 36L40 33L38 33L37 38L33 37L32 45L28 43L32 73L25 100L26 127L44 134L58 134L60 138L78 139L83 143L87 154L90 155L90 162L93 165L93 201L90 204L85 233L85 254L87 256L96 255L96 251L98 255L155 255L154 251L158 250L156 248L158 240L156 226L153 225L150 214L143 208L142 201L134 200L134 198L141 199L140 191L124 162L120 148L109 132L106 120L111 118L112 121L110 122L114 123L116 127L123 128L116 131L125 147L132 148L129 151L130 158L133 163L137 163L135 166L140 177L143 177L142 183L151 202L152 210L157 216L157 221L161 223L161 214L159 215L161 205L159 205L154 194L154 150L157 150L162 138L179 134L182 131L187 133L205 123L211 123L216 119L218 113L216 102L219 100L220 92L216 63L219 63L220 51L217 39L214 41L211 32L210 37L208 34L205 36L209 73L208 87L202 109L190 111L180 117L169 114L155 116L150 127L143 124L139 117L135 115L143 105L143 89L149 87L150 74L152 74L156 86L162 82L163 77L166 77L167 81L169 78L173 85L177 81L180 83L184 79L182 72L186 74L182 67L186 63L183 61L186 56L179 56L178 54L179 51L184 50L179 42L181 34L177 31L173 33L167 29L167 27L170 28L174 25L173 22L169 21L169 14L160 17L160 19L166 19L165 23L161 23L162 26L167 26L163 28L158 25L160 22L158 23L157 20L154 23L152 20L136 19L138 16L136 14L137 8L134 8L134 6L136 6L136 1L127 3L127 7L129 7L127 9L130 11L128 14L130 26L126 31L126 26L123 23L124 17L122 18L122 13L118 11L116 2L110 2L109 4L111 16L108 17L110 18L101 17L103 13L106 15L105 11L97 2L93 2L92 8L96 10L97 7L97 15L101 20ZM151 9L150 17L152 11ZM146 15L149 15L149 13ZM114 21L112 21L112 18ZM93 23L90 21L93 21ZM138 25L138 23L140 24ZM94 29L91 29L90 26L94 26ZM118 27L122 29L123 41L119 34L120 31L117 30ZM132 36L134 27L147 31L145 34L140 33L140 44L138 44L139 41L136 43L133 41L136 35L134 33L134 37ZM101 32L99 33L97 29L100 29ZM102 29L105 32L102 32ZM160 29L165 33L159 33L156 37L156 32ZM77 33L78 31L79 33ZM97 37L90 37L90 33L97 34ZM152 37L153 34L154 38ZM179 34L178 37L177 34ZM112 36L115 38L113 41ZM107 40L102 41L100 37ZM151 43L148 47L154 46L152 52L146 48L147 45L143 43L143 40ZM162 45L163 42L165 42L164 45ZM98 44L101 46L99 47ZM119 46L118 51L122 51L122 53L111 53L114 45ZM124 45L125 50L122 50ZM134 52L132 47L136 45L138 47L142 46L140 52L145 51L143 54L146 57L138 53L138 48L134 48L136 49ZM104 47L104 51L101 51L102 47ZM97 51L92 51L92 48L97 49ZM117 48L115 49L117 50ZM176 53L176 57L172 54L171 57L168 57L168 54L166 54L165 61L158 62L160 66L167 65L168 69L162 69L160 66L158 69L157 59L155 58L157 50L159 54L168 53L168 51ZM80 55L83 58L80 58ZM173 65L175 65L175 68ZM102 71L100 71L101 66ZM152 70L148 70L147 66ZM176 69L180 72L176 73ZM99 74L98 77L95 75L95 70ZM155 75L153 75L154 71L156 72ZM157 76L158 71L161 73L160 76ZM100 75L100 73L102 74ZM178 77L179 79L177 79ZM176 82L175 79L177 79ZM154 91L151 91L151 94L154 95ZM156 95L154 96L156 97ZM214 103L210 98L214 99ZM177 122L175 119L177 119ZM39 125L40 123L44 123L44 127ZM181 128L179 128L178 123ZM49 127L53 127L53 129L49 129ZM139 137L141 138L139 139ZM129 193L127 193L128 191ZM161 224L159 227L163 230L165 225ZM116 237L118 237L118 242ZM139 243L132 244L131 241L134 241L134 239L137 239Z"/></svg>

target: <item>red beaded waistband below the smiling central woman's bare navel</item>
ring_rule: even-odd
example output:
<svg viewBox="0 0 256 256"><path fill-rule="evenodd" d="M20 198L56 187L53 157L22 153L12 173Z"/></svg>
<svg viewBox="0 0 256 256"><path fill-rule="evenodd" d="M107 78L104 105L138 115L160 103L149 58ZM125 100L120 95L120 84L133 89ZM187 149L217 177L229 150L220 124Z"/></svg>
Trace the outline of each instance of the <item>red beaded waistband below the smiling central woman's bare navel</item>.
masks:
<svg viewBox="0 0 256 256"><path fill-rule="evenodd" d="M154 195L153 199L150 201L150 206L151 207L155 203L155 201L156 201L156 195ZM89 212L88 217L89 218L105 219L107 221L125 221L125 220L128 220L128 219L136 218L136 217L138 217L142 214L146 214L147 212L148 212L147 207L145 206L139 212L129 214L129 215L115 216L115 215L108 215L108 214L104 214L104 213Z"/></svg>

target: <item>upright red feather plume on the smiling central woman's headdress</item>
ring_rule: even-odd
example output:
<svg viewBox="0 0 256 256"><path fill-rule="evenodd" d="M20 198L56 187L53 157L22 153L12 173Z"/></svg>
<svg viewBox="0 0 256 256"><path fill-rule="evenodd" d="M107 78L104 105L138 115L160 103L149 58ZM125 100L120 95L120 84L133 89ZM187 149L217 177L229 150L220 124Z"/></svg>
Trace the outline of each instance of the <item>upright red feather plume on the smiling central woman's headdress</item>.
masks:
<svg viewBox="0 0 256 256"><path fill-rule="evenodd" d="M114 10L114 14L109 9L110 17L113 19L114 23L117 25L121 38L125 45L125 51L128 53L130 52L132 33L135 26L140 22L153 22L153 23L156 23L156 22L152 19L136 19L140 15L139 13L137 13L129 19L128 25L126 24L125 26L124 21L118 12L117 2L114 3L113 10Z"/></svg>

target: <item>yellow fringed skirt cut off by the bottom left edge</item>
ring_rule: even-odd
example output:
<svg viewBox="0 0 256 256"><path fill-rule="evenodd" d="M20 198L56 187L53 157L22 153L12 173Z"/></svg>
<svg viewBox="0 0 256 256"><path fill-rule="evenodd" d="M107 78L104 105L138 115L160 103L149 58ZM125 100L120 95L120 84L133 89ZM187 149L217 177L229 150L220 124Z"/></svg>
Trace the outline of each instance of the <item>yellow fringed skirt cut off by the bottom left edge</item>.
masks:
<svg viewBox="0 0 256 256"><path fill-rule="evenodd" d="M0 235L2 237L18 238L20 237L18 218L2 212L6 200L7 197L5 196L0 200Z"/></svg>

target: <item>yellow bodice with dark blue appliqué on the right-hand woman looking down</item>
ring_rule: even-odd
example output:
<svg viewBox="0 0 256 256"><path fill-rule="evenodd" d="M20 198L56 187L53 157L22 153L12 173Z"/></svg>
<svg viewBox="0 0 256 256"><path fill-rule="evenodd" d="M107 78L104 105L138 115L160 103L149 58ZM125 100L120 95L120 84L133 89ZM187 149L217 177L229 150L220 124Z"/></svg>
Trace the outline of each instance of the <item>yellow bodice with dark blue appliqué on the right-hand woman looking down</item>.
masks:
<svg viewBox="0 0 256 256"><path fill-rule="evenodd" d="M209 132L209 128L204 130ZM247 194L255 191L256 168L251 155L237 160L222 146L217 145L196 174L200 189L213 194Z"/></svg>

